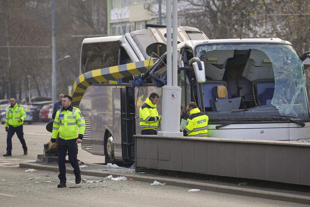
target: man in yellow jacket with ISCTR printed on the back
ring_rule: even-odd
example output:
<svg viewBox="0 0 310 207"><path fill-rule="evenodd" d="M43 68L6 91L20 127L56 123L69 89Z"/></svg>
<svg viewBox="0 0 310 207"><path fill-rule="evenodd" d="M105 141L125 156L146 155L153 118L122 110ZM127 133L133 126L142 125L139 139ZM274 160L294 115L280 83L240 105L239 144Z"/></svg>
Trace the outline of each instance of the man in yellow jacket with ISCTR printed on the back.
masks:
<svg viewBox="0 0 310 207"><path fill-rule="evenodd" d="M186 106L186 111L190 113L186 128L183 129L185 136L207 137L209 118L205 113L200 112L195 102L190 102Z"/></svg>

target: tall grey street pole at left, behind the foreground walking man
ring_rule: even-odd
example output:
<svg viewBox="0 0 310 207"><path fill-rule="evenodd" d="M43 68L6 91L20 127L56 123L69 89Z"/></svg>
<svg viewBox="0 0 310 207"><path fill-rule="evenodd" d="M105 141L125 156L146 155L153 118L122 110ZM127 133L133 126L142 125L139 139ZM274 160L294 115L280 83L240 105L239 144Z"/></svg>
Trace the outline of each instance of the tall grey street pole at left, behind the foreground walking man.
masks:
<svg viewBox="0 0 310 207"><path fill-rule="evenodd" d="M56 40L55 40L55 7L54 0L51 0L52 7L52 102L56 102Z"/></svg>

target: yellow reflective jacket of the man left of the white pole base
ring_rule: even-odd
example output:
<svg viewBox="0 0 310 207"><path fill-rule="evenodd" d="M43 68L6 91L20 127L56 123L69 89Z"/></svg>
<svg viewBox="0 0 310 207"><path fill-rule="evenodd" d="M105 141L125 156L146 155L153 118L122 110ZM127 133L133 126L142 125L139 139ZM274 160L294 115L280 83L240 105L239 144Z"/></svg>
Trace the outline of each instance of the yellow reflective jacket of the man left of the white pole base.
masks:
<svg viewBox="0 0 310 207"><path fill-rule="evenodd" d="M159 127L158 111L156 104L153 104L149 99L146 99L144 104L139 109L140 127L141 129L154 129Z"/></svg>

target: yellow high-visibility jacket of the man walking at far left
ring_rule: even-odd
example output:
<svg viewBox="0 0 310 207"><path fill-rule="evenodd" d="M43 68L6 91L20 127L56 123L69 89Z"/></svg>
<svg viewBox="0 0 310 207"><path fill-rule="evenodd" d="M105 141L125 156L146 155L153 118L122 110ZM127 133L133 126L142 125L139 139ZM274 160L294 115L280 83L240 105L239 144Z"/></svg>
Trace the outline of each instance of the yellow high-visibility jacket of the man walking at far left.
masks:
<svg viewBox="0 0 310 207"><path fill-rule="evenodd" d="M21 119L21 122L18 122L19 119ZM7 128L8 125L18 127L24 124L25 119L26 119L26 112L24 111L24 108L15 103L13 107L10 106L9 108L7 108L7 118L5 120L5 127Z"/></svg>

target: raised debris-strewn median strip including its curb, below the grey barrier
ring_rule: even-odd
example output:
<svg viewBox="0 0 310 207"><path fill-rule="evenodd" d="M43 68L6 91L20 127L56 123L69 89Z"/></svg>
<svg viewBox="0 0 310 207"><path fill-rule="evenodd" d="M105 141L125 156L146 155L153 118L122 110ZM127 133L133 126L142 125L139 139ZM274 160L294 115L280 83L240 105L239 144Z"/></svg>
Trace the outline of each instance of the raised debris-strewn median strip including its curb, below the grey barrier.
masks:
<svg viewBox="0 0 310 207"><path fill-rule="evenodd" d="M191 189L201 189L201 190L215 191L215 192L222 192L243 196L252 196L265 199L282 200L282 201L289 201L294 203L310 205L310 196L302 196L302 195L295 195L290 193L282 193L274 191L264 191L264 190L250 189L247 187L234 187L232 185L218 185L206 182L196 182L186 179L184 180L182 178L171 179L166 178L164 176L157 177L154 176L153 174L147 174L146 176L145 173L135 173L134 169L123 167L111 168L106 165L99 165L99 164L86 164L86 166L87 167L80 168L82 175L97 176L102 178L105 178L109 175L112 175L113 178L119 176L125 176L127 179L132 178L135 181L149 182L149 183L153 183L156 180L157 182L166 183L166 185L172 185L172 186L187 187ZM59 172L58 164L51 164L51 163L20 163L19 167L24 169L37 169L37 170ZM70 164L66 165L66 167L67 167L66 169L67 173L73 173L73 169Z"/></svg>

